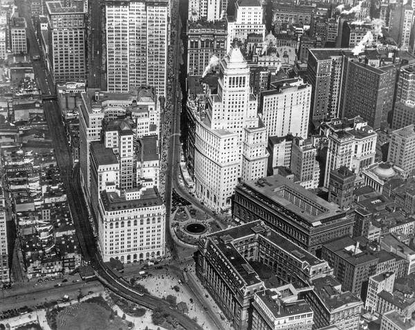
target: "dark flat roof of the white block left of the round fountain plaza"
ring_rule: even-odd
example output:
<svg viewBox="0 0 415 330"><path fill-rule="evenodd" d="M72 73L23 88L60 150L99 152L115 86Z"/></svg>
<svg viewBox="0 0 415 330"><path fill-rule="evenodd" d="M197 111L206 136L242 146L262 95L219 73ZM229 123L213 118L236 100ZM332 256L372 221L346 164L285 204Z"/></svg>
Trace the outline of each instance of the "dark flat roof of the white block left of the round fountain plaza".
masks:
<svg viewBox="0 0 415 330"><path fill-rule="evenodd" d="M102 191L101 200L105 211L108 212L163 205L163 200L156 187L143 190L138 200L126 200L116 192Z"/></svg>

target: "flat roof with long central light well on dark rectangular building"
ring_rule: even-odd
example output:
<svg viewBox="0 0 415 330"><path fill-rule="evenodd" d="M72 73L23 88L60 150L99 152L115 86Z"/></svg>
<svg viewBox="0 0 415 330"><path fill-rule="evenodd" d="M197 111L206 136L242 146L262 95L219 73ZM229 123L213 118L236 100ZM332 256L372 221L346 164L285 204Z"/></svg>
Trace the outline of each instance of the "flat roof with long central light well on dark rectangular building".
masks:
<svg viewBox="0 0 415 330"><path fill-rule="evenodd" d="M255 181L244 182L242 189L248 188L272 200L287 211L312 226L319 226L333 217L343 217L345 213L334 203L329 203L317 195L295 184L281 175L262 177Z"/></svg>

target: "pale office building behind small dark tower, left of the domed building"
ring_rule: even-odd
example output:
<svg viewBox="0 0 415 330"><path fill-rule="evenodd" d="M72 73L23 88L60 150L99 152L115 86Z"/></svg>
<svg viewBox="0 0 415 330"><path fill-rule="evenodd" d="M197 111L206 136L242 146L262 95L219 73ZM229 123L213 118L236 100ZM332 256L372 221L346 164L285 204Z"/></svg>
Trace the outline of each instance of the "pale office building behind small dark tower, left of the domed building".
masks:
<svg viewBox="0 0 415 330"><path fill-rule="evenodd" d="M331 171L346 166L360 173L375 162L378 135L360 117L332 119L322 124L322 132L329 137L324 186L329 187Z"/></svg>

